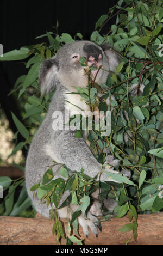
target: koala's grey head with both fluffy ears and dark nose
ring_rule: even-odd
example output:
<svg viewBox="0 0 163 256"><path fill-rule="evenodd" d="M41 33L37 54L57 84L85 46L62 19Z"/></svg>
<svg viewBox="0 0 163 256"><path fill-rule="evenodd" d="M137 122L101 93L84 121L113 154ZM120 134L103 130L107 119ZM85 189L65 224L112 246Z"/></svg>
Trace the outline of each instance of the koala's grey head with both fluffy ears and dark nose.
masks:
<svg viewBox="0 0 163 256"><path fill-rule="evenodd" d="M51 91L60 82L70 92L75 87L86 87L88 77L79 58L85 57L87 66L96 66L92 71L96 83L105 83L109 72L114 72L120 63L120 57L108 44L96 45L91 41L76 41L60 48L54 57L43 60L39 71L41 93ZM102 68L98 71L99 66ZM97 73L98 71L98 73Z"/></svg>

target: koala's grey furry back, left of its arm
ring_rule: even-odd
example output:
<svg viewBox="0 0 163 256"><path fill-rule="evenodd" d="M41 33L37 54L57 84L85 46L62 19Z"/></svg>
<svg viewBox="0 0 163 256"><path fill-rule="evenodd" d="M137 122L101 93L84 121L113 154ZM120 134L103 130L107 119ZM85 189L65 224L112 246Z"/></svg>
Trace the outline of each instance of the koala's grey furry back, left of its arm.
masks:
<svg viewBox="0 0 163 256"><path fill-rule="evenodd" d="M32 199L32 192L30 188L36 184L46 170L53 166L55 160L51 153L52 141L59 136L61 131L53 130L53 112L60 111L64 116L64 90L56 90L53 100L49 105L46 118L43 120L41 126L30 144L27 160L26 160L26 187L29 197ZM52 167L55 172L55 167ZM56 178L56 176L55 176Z"/></svg>

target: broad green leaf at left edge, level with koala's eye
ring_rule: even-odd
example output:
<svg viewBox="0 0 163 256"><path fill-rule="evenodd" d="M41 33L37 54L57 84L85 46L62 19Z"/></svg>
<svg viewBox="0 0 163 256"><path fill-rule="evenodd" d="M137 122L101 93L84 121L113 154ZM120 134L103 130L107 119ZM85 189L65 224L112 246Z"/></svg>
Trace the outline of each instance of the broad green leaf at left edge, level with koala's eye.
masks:
<svg viewBox="0 0 163 256"><path fill-rule="evenodd" d="M13 50L0 56L0 60L20 60L26 59L29 56L29 49L26 47L20 48L20 50Z"/></svg>

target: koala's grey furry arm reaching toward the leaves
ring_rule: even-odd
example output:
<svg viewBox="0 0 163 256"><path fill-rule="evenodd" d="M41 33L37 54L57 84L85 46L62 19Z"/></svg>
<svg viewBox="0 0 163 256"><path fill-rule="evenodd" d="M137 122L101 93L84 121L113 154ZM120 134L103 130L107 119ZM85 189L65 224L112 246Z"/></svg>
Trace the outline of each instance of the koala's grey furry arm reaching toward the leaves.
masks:
<svg viewBox="0 0 163 256"><path fill-rule="evenodd" d="M91 177L100 172L101 164L95 159L84 139L74 137L73 132L62 131L54 139L53 146L57 159L71 170L80 172L83 167L84 173Z"/></svg>

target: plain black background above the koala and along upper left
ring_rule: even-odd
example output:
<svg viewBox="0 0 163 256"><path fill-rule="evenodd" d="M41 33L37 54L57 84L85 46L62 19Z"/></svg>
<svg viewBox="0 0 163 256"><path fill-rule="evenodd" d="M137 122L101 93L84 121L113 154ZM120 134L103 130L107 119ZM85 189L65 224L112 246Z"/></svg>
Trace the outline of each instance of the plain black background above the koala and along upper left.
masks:
<svg viewBox="0 0 163 256"><path fill-rule="evenodd" d="M77 32L82 33L84 40L89 40L95 30L95 23L109 8L117 3L116 0L4 0L1 1L0 15L0 43L3 52L19 49L24 45L39 44L46 39L35 39L36 36L52 31L59 21L58 32L68 33L72 37ZM110 20L102 34L108 32L115 19ZM19 62L0 63L0 107L9 119L10 128L17 129L11 118L11 111L21 120L17 102L13 96L8 96L14 87L16 79L27 74L24 65Z"/></svg>

